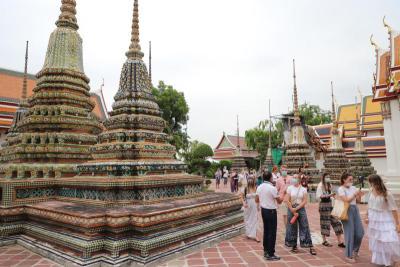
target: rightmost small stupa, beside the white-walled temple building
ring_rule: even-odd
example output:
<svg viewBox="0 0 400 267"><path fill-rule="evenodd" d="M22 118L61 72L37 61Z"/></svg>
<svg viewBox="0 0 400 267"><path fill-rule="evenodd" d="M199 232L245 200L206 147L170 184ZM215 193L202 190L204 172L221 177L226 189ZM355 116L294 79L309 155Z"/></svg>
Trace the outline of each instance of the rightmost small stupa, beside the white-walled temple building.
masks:
<svg viewBox="0 0 400 267"><path fill-rule="evenodd" d="M362 98L361 98L362 99ZM360 102L362 103L362 101ZM364 148L364 143L361 140L363 134L360 127L360 114L361 111L357 111L356 117L356 140L354 143L354 151L348 156L350 160L350 173L355 177L367 178L368 175L376 173L374 167L372 166L371 160L368 157L368 153ZM357 180L357 179L356 179Z"/></svg>

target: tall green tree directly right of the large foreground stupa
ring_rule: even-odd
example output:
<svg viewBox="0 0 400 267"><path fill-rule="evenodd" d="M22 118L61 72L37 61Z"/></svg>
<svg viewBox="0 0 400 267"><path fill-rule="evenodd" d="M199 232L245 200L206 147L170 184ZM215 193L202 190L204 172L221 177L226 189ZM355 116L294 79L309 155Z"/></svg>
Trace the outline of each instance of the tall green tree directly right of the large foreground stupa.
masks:
<svg viewBox="0 0 400 267"><path fill-rule="evenodd" d="M189 145L188 136L183 127L189 120L189 106L185 95L163 81L160 81L157 87L153 87L152 93L167 123L164 132L171 136L170 143L181 154Z"/></svg>

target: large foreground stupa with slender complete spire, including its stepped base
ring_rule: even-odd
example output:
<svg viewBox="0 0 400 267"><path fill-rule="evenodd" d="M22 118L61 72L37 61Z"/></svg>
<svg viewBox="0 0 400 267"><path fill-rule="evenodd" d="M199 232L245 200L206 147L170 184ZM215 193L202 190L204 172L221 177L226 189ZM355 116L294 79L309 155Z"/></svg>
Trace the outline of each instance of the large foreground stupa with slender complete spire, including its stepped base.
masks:
<svg viewBox="0 0 400 267"><path fill-rule="evenodd" d="M62 3L63 13L75 14L75 0ZM93 159L80 164L74 177L41 179L40 188L25 182L3 193L19 206L3 201L0 236L63 266L156 264L243 227L238 196L206 192L203 178L187 174L174 159L142 60L137 0L133 10L131 45L106 129L91 146ZM58 25L77 28L74 20ZM65 37L51 40L61 45Z"/></svg>

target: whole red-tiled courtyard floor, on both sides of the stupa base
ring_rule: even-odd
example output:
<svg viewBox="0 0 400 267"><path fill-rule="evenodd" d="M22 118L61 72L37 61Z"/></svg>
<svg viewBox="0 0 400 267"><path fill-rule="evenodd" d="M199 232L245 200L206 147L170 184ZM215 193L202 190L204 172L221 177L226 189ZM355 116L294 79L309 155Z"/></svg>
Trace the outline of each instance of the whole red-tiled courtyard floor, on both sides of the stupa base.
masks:
<svg viewBox="0 0 400 267"><path fill-rule="evenodd" d="M214 187L214 185L212 185ZM227 191L222 188L217 191ZM366 206L361 206L362 215L365 214ZM306 266L374 266L369 264L370 253L368 251L368 238L363 240L360 261L357 264L347 264L343 258L343 250L336 246L334 237L330 242L335 244L332 248L326 248L321 243L319 234L319 214L316 204L309 204L307 207L308 217L311 225L313 240L316 243L318 255L312 256L308 250L301 249L296 255L291 254L283 244L284 228L281 216L278 222L277 255L282 257L279 262L266 262L263 258L263 248L260 243L246 239L245 236L238 236L223 241L215 247L203 249L187 256L171 260L163 267L186 267L186 266L214 266L214 267L241 267L241 266L271 266L271 267L306 267ZM333 233L332 233L333 234ZM0 267L27 266L27 267L51 267L60 266L48 259L34 254L21 246L13 245L0 247Z"/></svg>

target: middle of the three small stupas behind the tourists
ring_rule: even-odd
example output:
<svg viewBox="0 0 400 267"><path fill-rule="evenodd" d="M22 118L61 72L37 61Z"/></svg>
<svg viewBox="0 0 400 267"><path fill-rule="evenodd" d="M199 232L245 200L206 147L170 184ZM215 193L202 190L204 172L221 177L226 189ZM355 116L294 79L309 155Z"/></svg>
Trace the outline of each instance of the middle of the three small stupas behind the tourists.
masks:
<svg viewBox="0 0 400 267"><path fill-rule="evenodd" d="M346 157L342 146L342 137L338 129L336 118L336 108L333 95L333 82L331 82L332 91L332 130L331 143L325 155L323 172L328 173L333 184L340 184L340 176L345 171L349 171L350 163Z"/></svg>

